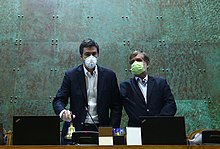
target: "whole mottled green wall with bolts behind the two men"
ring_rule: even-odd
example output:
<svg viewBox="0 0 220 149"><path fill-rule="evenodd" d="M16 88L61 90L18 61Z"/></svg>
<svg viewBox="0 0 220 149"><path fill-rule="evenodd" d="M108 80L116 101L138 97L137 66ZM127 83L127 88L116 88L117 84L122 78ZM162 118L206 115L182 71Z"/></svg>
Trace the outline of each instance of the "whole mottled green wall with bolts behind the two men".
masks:
<svg viewBox="0 0 220 149"><path fill-rule="evenodd" d="M0 122L9 130L13 115L54 115L64 71L90 37L118 82L131 77L129 53L145 50L187 134L220 129L219 13L219 0L0 0Z"/></svg>

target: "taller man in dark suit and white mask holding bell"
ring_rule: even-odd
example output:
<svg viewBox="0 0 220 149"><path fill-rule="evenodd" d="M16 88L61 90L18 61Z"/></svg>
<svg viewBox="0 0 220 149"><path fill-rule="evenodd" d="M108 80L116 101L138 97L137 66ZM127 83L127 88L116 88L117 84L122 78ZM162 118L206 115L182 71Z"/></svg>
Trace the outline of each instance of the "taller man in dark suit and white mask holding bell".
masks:
<svg viewBox="0 0 220 149"><path fill-rule="evenodd" d="M99 126L120 127L122 104L113 71L97 65L99 46L92 39L79 47L81 65L65 72L53 100L53 108L64 121L61 144L73 123L76 131L98 131ZM70 101L70 109L66 106ZM91 118L92 117L92 118Z"/></svg>

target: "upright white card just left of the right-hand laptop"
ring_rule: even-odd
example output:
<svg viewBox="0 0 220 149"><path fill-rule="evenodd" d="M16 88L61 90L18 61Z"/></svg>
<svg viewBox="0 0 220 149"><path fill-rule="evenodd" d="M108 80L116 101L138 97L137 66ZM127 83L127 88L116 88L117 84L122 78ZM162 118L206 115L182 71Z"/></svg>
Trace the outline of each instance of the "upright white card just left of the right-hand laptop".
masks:
<svg viewBox="0 0 220 149"><path fill-rule="evenodd" d="M126 127L127 145L142 145L141 128Z"/></svg>

